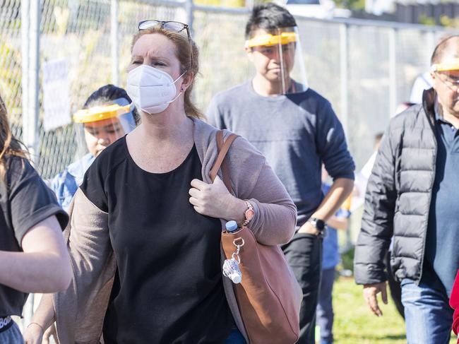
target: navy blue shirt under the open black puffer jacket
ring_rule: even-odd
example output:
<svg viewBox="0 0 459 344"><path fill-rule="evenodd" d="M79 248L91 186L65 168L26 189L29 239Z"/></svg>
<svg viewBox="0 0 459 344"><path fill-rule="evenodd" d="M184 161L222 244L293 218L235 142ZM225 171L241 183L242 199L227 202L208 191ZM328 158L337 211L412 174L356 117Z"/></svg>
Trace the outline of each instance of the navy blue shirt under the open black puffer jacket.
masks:
<svg viewBox="0 0 459 344"><path fill-rule="evenodd" d="M438 148L423 267L427 271L425 274L423 271L423 280L429 283L428 276L435 273L451 295L459 267L459 131L439 114L435 129Z"/></svg>

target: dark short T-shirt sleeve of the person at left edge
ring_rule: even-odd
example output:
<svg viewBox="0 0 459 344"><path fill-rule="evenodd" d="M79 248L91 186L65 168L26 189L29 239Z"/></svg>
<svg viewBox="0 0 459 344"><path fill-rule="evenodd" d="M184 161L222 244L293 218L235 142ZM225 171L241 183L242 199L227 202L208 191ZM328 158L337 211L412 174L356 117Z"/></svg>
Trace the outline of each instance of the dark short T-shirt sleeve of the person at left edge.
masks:
<svg viewBox="0 0 459 344"><path fill-rule="evenodd" d="M64 230L68 223L67 213L27 160L8 158L6 181L11 226L21 247L25 233L49 216L56 215Z"/></svg>

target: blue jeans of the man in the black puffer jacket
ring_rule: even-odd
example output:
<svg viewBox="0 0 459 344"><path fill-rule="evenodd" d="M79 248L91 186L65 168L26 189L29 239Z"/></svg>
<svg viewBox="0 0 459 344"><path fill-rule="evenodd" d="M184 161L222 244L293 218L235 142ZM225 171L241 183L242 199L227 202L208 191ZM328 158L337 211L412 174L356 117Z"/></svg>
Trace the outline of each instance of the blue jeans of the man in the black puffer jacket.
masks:
<svg viewBox="0 0 459 344"><path fill-rule="evenodd" d="M409 279L402 281L402 303L408 344L448 344L453 323L453 309L449 307L444 290Z"/></svg>

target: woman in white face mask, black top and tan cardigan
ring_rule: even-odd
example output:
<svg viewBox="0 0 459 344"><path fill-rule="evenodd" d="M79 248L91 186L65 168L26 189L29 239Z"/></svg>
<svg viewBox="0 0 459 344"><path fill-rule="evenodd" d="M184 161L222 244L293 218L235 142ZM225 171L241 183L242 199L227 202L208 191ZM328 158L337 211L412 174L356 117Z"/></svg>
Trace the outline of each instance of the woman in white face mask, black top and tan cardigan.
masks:
<svg viewBox="0 0 459 344"><path fill-rule="evenodd" d="M101 334L105 343L248 342L222 276L222 227L235 220L259 242L282 244L296 209L244 138L226 158L234 194L211 182L217 129L191 102L197 73L186 25L139 24L126 90L141 124L85 174L66 229L73 284L44 297L33 319L42 328L57 319L60 343L99 343Z"/></svg>

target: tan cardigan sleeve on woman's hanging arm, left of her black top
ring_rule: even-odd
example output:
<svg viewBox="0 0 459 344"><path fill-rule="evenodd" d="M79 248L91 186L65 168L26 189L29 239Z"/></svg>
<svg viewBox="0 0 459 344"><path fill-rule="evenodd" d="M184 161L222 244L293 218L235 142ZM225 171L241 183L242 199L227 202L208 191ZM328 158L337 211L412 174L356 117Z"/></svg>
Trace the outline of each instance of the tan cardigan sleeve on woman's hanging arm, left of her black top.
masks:
<svg viewBox="0 0 459 344"><path fill-rule="evenodd" d="M108 214L81 191L70 210L64 236L71 257L73 281L53 296L60 343L100 343L116 270L109 240Z"/></svg>

